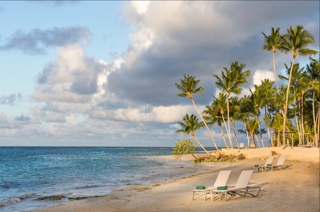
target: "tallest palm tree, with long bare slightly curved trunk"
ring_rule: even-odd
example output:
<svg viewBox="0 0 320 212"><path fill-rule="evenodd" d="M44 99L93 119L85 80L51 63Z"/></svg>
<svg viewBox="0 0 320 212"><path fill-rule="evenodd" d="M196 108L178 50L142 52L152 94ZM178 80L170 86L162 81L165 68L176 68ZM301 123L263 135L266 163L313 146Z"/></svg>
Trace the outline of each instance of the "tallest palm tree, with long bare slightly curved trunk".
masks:
<svg viewBox="0 0 320 212"><path fill-rule="evenodd" d="M284 45L286 51L291 51L293 59L292 59L292 65L288 80L288 87L286 89L286 97L285 97L285 106L284 106L284 114L283 114L283 129L282 129L282 140L285 140L285 123L286 123L286 112L287 112L287 106L288 106L288 98L289 98L289 88L291 84L291 75L292 75L292 69L294 65L294 59L297 55L300 56L310 56L315 55L316 53L319 53L318 51L308 49L306 48L310 43L314 44L313 36L305 29L303 29L302 25L297 25L295 28L292 28L290 25L290 28L286 29L286 33L283 36L284 38Z"/></svg>

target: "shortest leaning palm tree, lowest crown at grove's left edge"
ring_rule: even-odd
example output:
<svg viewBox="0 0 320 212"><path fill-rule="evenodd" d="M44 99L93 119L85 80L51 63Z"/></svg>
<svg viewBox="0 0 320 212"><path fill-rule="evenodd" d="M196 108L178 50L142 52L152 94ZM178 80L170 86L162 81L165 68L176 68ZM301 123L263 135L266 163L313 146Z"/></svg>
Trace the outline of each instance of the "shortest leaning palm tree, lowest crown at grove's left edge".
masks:
<svg viewBox="0 0 320 212"><path fill-rule="evenodd" d="M206 152L206 154L209 155L209 152L206 151L206 149L200 144L200 142L194 136L194 131L197 131L203 127L203 122L198 122L198 120L199 119L196 118L196 115L191 114L191 116L189 117L189 115L186 113L185 116L183 117L184 123L178 121L178 124L182 129L175 131L175 133L191 135L196 140L196 142L198 142L198 144L202 147L202 149Z"/></svg>

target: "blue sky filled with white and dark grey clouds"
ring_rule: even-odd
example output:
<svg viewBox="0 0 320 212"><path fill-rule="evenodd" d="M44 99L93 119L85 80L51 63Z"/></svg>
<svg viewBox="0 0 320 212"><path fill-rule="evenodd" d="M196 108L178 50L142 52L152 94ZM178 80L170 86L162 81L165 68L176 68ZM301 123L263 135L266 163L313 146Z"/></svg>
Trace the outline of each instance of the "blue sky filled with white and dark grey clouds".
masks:
<svg viewBox="0 0 320 212"><path fill-rule="evenodd" d="M240 96L248 95L274 80L261 31L302 24L314 36L308 47L319 51L319 8L319 1L0 1L0 146L174 146L190 138L174 133L177 122L197 115L190 99L176 96L183 74L201 79L199 111L219 93L212 74L234 61L251 71ZM291 60L276 52L277 74ZM295 62L303 67L308 58ZM210 130L224 147L219 127ZM195 136L213 147L205 129Z"/></svg>

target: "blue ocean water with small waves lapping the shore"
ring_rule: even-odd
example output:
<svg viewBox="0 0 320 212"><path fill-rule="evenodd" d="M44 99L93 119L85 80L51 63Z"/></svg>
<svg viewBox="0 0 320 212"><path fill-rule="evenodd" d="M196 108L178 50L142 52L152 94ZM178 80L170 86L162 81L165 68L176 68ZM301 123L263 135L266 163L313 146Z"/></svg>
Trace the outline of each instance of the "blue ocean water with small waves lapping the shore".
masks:
<svg viewBox="0 0 320 212"><path fill-rule="evenodd" d="M0 147L0 212L57 203L32 201L39 197L105 195L199 171L188 162L151 157L171 153L171 147Z"/></svg>

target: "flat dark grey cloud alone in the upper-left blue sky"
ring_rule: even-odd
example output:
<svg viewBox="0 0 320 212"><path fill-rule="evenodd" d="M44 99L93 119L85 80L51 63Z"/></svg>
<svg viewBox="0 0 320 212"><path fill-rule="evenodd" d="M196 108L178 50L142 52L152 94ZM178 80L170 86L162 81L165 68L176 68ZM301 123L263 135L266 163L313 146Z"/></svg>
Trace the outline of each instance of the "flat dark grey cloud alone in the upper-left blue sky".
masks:
<svg viewBox="0 0 320 212"><path fill-rule="evenodd" d="M87 27L54 27L51 29L16 30L0 45L0 50L21 50L27 54L44 54L46 47L65 46L82 42L86 44L91 35Z"/></svg>

